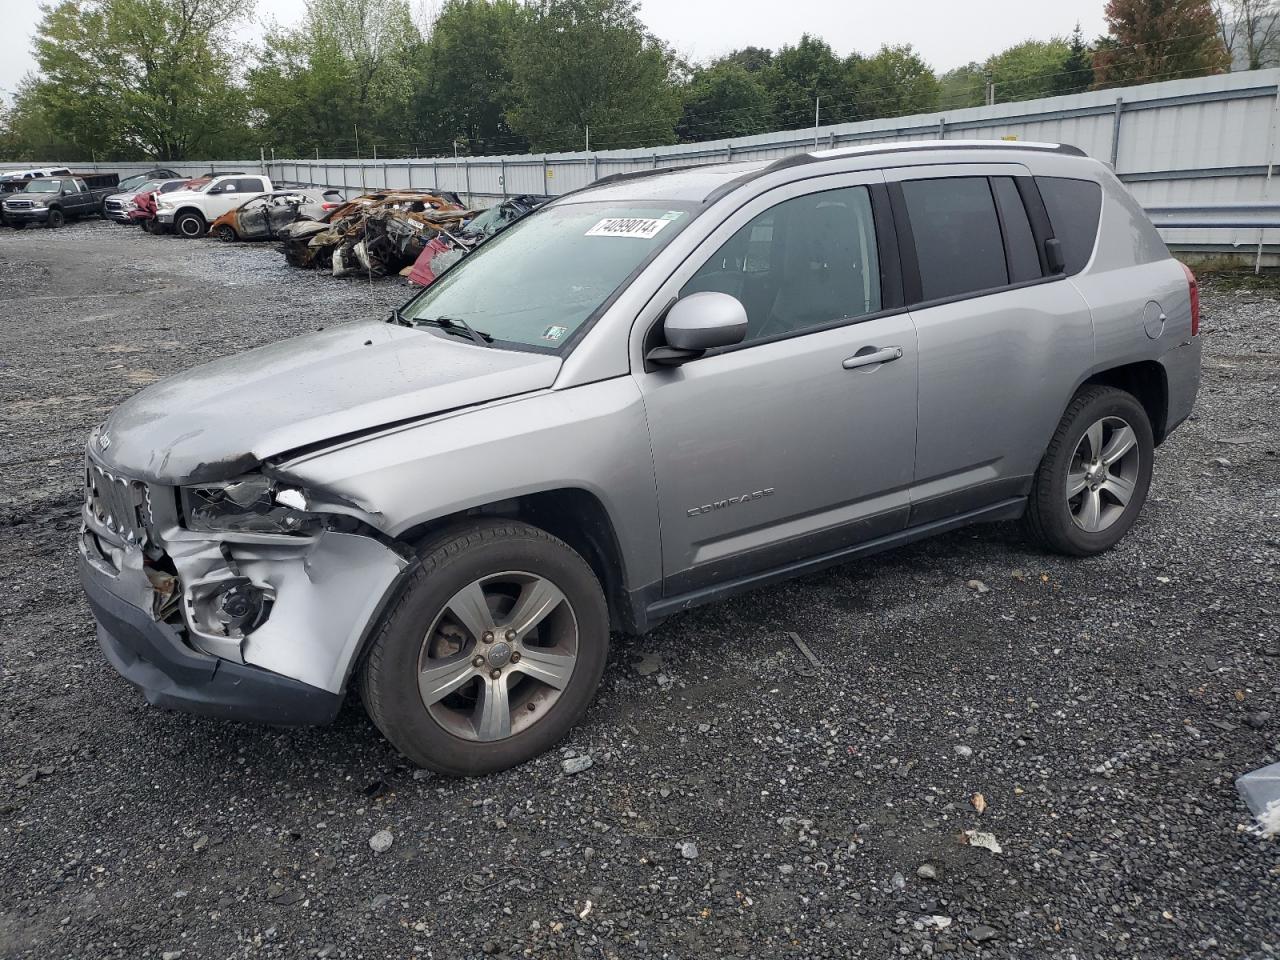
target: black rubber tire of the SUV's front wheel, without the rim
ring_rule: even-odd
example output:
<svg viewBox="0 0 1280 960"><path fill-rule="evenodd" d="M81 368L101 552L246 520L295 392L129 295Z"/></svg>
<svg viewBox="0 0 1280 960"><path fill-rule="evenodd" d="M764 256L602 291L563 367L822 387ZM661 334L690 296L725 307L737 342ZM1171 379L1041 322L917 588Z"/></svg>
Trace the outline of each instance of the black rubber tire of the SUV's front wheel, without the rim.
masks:
<svg viewBox="0 0 1280 960"><path fill-rule="evenodd" d="M440 727L422 704L417 689L422 640L458 590L511 570L547 577L568 599L577 618L577 664L547 716L527 730L492 744L465 740ZM479 540L415 577L389 613L376 640L380 655L365 664L365 684L376 687L378 696L378 709L370 713L387 739L419 765L448 776L507 769L553 748L582 717L604 673L608 641L604 595L590 567L572 549L552 538L518 532Z"/></svg>

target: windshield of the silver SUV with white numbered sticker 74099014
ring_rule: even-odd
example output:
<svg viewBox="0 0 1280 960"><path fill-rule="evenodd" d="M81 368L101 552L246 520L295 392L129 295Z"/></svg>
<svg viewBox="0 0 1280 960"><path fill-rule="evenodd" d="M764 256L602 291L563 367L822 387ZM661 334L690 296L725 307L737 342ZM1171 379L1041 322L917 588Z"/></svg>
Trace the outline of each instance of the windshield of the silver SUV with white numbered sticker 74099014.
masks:
<svg viewBox="0 0 1280 960"><path fill-rule="evenodd" d="M498 342L559 349L691 216L669 201L544 207L480 244L402 315L462 320Z"/></svg>

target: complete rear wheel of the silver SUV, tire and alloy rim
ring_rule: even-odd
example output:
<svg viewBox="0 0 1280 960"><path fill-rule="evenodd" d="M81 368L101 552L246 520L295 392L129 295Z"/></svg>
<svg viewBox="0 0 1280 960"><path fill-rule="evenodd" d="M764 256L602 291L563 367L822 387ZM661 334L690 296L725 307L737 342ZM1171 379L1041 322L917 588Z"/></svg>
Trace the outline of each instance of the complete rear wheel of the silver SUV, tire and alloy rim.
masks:
<svg viewBox="0 0 1280 960"><path fill-rule="evenodd" d="M1133 394L1080 389L1032 481L1025 524L1033 539L1070 557L1110 550L1147 500L1155 449L1151 420Z"/></svg>

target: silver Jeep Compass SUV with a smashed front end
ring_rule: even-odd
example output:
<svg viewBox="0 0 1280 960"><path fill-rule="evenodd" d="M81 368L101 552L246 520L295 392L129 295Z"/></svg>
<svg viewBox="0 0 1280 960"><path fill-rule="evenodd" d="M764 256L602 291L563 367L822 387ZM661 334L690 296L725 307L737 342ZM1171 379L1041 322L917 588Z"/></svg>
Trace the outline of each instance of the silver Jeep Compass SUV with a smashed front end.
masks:
<svg viewBox="0 0 1280 960"><path fill-rule="evenodd" d="M81 575L147 699L503 769L609 631L965 524L1088 556L1190 412L1196 279L1100 163L890 143L564 196L387 320L88 443Z"/></svg>

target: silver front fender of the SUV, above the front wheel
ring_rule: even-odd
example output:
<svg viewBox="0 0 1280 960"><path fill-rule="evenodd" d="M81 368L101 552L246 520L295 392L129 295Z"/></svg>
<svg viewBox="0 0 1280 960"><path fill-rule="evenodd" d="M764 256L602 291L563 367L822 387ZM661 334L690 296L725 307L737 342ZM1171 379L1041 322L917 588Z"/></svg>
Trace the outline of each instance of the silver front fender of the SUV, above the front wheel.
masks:
<svg viewBox="0 0 1280 960"><path fill-rule="evenodd" d="M649 430L630 376L390 428L270 472L392 538L502 500L582 489L609 516L627 588L662 576Z"/></svg>

